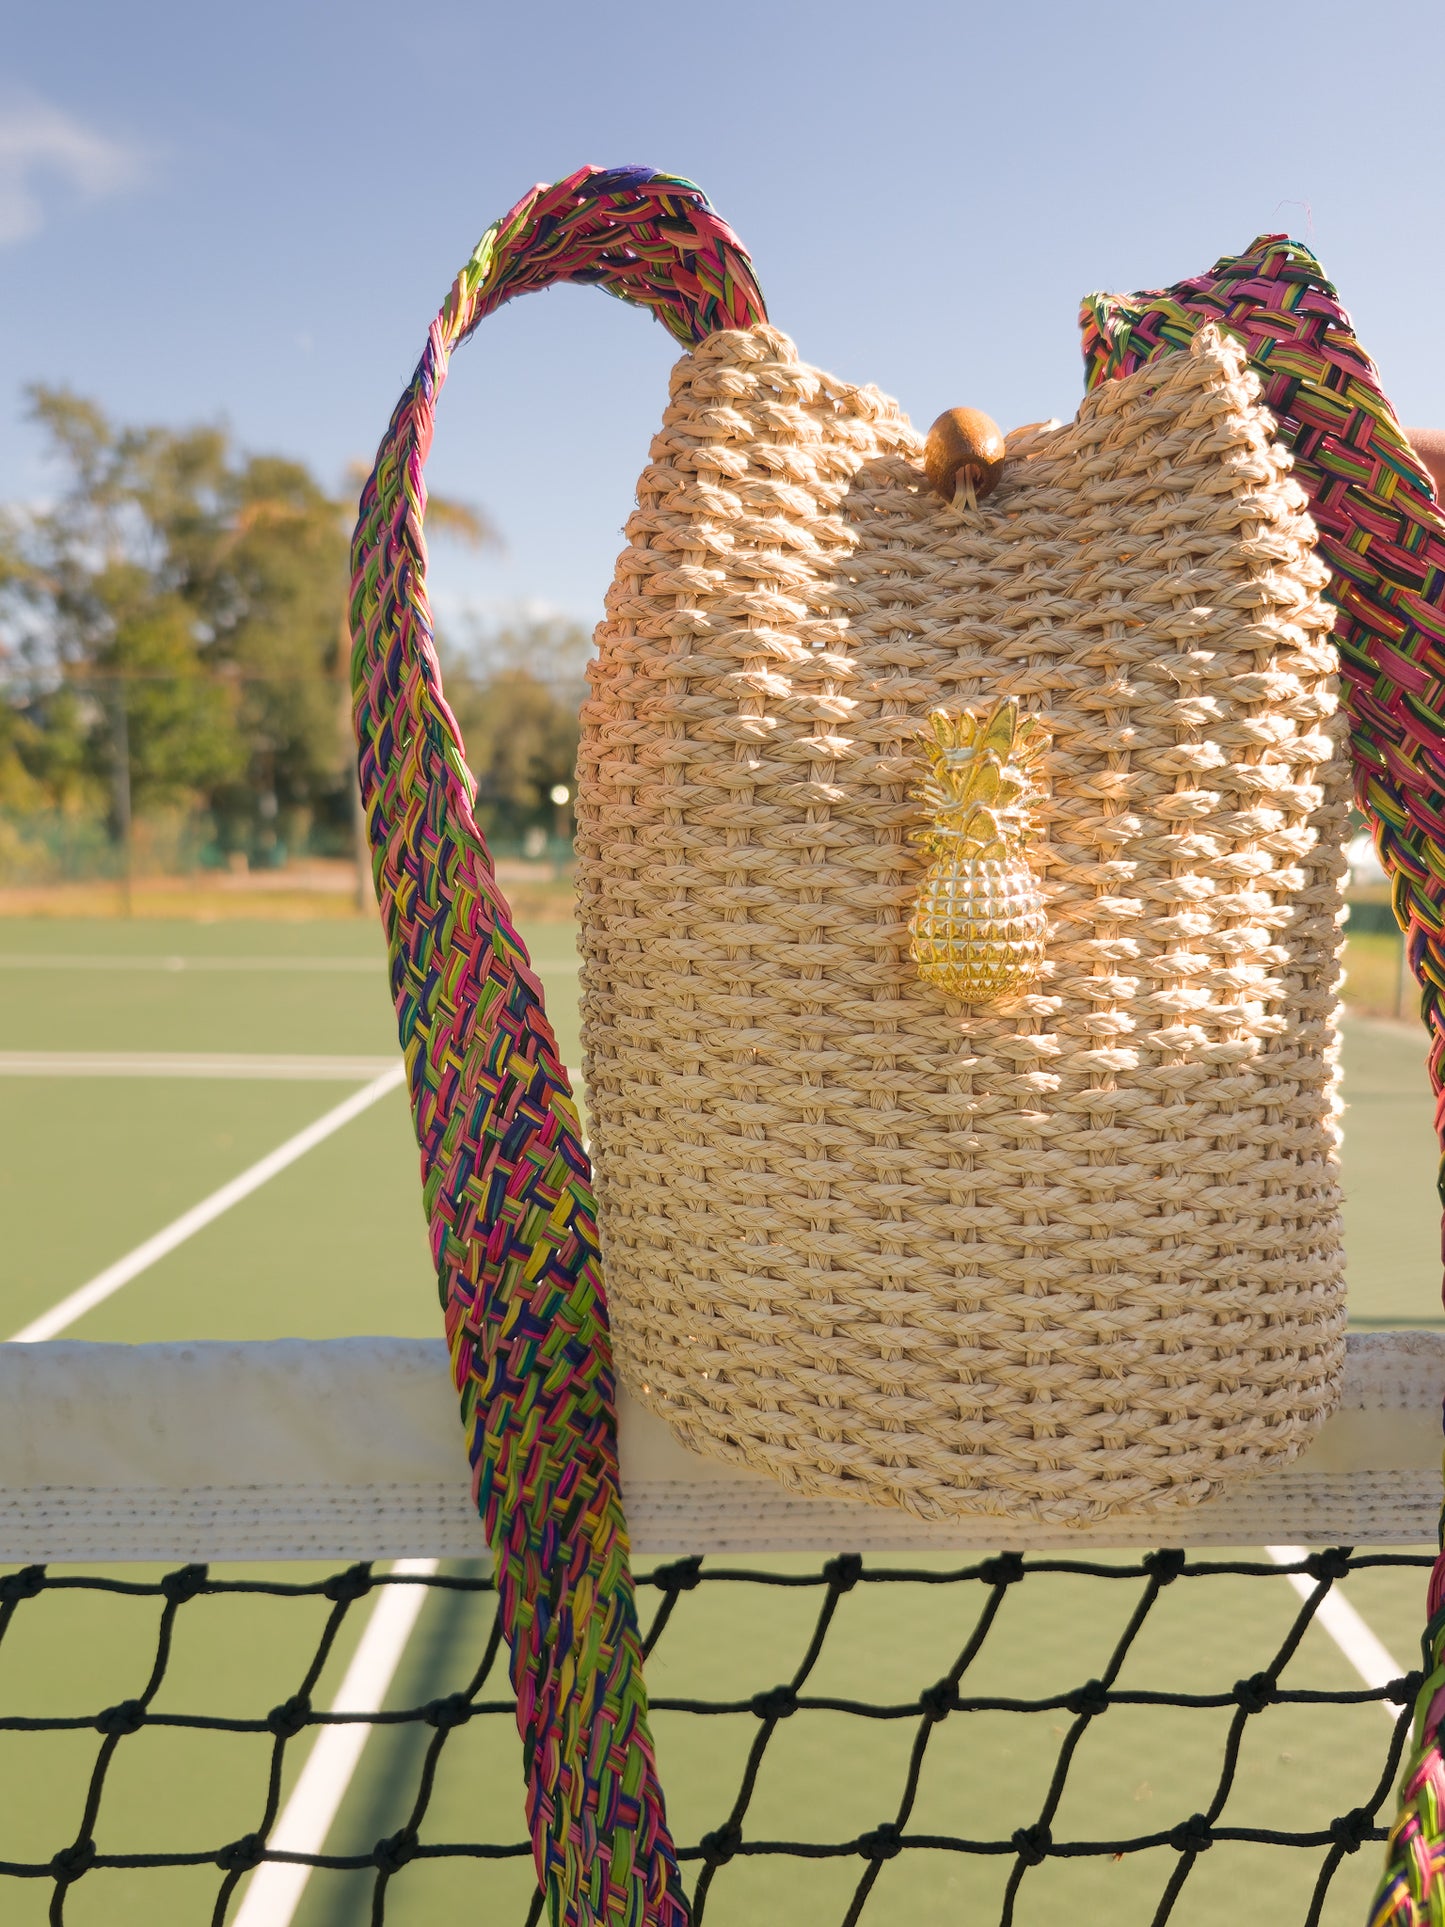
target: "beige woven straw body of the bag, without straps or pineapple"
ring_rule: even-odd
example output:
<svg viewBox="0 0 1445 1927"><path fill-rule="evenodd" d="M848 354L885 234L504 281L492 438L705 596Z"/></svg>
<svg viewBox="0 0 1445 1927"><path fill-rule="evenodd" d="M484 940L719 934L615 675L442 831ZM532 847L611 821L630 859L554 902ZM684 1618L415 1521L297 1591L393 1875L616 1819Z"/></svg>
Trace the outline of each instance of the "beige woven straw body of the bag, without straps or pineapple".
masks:
<svg viewBox="0 0 1445 1927"><path fill-rule="evenodd" d="M1195 1503L1343 1368L1347 769L1243 351L1100 385L944 507L767 326L674 374L578 765L617 1364L694 1447L921 1518ZM1050 734L1031 994L907 954L917 726Z"/></svg>

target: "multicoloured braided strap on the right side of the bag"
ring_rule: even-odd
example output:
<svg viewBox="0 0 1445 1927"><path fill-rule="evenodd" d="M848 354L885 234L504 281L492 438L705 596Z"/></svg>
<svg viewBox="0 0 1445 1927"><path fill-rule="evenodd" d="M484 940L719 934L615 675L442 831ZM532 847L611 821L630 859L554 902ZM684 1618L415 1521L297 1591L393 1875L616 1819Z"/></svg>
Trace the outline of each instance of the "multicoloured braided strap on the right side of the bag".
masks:
<svg viewBox="0 0 1445 1927"><path fill-rule="evenodd" d="M1202 322L1245 343L1310 497L1337 609L1354 790L1420 979L1445 1141L1445 520L1339 295L1314 254L1281 235L1158 293L1089 299L1089 385L1183 347ZM1430 1586L1428 1678L1372 1927L1445 1921L1441 1605L1445 1553Z"/></svg>

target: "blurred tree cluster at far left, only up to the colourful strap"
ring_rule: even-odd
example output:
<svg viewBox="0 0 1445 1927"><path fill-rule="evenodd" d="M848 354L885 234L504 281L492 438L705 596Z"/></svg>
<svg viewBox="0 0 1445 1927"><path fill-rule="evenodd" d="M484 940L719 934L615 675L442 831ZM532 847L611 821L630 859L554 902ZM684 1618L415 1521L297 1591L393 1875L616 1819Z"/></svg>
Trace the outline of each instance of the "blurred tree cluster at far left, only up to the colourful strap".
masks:
<svg viewBox="0 0 1445 1927"><path fill-rule="evenodd" d="M66 389L29 403L60 489L0 524L0 784L96 807L129 738L137 809L200 804L237 846L281 813L345 825L349 505L220 428L118 428Z"/></svg>

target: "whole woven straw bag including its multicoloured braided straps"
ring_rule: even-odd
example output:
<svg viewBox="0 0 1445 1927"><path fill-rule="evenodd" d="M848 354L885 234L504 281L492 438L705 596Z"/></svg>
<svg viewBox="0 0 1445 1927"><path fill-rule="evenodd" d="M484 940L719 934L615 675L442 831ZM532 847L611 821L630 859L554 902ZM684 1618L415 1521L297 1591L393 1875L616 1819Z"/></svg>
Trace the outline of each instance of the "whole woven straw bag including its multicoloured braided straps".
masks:
<svg viewBox="0 0 1445 1927"><path fill-rule="evenodd" d="M566 279L688 349L584 711L597 1208L422 536L451 349ZM807 1491L1168 1518L1299 1451L1335 1391L1335 649L1356 796L1445 983L1443 530L1302 249L1085 316L1075 422L925 443L769 328L696 187L582 170L487 231L362 495L360 784L565 1921L686 1917L599 1233L634 1393Z"/></svg>

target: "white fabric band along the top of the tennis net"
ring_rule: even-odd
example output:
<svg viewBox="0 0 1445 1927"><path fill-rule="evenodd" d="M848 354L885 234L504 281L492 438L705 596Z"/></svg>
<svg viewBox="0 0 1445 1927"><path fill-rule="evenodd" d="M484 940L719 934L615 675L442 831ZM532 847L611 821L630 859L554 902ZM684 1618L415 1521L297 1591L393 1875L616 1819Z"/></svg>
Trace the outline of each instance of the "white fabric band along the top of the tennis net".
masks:
<svg viewBox="0 0 1445 1927"><path fill-rule="evenodd" d="M699 1459L624 1397L640 1553L1433 1540L1445 1333L1353 1333L1339 1411L1285 1470L1104 1526L919 1524ZM0 1561L476 1557L445 1347L0 1345Z"/></svg>

